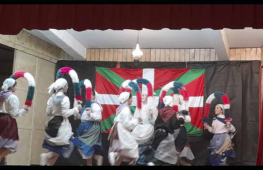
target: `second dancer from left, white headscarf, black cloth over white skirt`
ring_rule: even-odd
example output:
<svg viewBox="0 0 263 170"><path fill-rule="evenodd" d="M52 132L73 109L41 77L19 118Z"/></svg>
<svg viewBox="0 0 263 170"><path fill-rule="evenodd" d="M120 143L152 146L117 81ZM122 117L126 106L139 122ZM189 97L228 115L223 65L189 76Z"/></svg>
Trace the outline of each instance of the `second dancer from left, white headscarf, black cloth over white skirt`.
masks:
<svg viewBox="0 0 263 170"><path fill-rule="evenodd" d="M77 107L70 109L69 98L64 95L68 89L66 79L60 78L52 83L48 88L49 93L53 89L56 93L47 101L46 114L51 117L45 123L45 139L42 144L42 147L50 152L40 155L40 164L49 166L55 164L59 155L69 158L73 151L74 144L69 141L73 132L68 117L77 115L82 108L78 104Z"/></svg>

